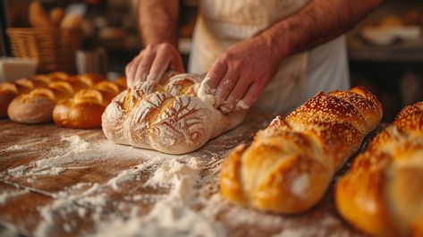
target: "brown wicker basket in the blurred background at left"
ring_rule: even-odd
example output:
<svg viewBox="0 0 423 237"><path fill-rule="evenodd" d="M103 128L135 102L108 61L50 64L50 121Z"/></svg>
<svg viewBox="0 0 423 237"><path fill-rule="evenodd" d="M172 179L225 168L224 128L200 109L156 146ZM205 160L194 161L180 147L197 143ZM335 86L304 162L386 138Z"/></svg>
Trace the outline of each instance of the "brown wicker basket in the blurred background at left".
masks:
<svg viewBox="0 0 423 237"><path fill-rule="evenodd" d="M76 72L75 51L82 34L75 29L9 28L13 55L38 60L38 72Z"/></svg>

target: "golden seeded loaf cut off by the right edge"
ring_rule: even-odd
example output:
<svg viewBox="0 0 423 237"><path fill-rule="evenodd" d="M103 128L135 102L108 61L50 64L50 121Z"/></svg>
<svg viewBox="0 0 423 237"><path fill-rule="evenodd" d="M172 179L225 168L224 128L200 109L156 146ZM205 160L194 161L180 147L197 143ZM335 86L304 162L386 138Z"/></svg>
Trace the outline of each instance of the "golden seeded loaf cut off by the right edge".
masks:
<svg viewBox="0 0 423 237"><path fill-rule="evenodd" d="M423 236L423 102L377 134L335 188L336 207L374 236Z"/></svg>

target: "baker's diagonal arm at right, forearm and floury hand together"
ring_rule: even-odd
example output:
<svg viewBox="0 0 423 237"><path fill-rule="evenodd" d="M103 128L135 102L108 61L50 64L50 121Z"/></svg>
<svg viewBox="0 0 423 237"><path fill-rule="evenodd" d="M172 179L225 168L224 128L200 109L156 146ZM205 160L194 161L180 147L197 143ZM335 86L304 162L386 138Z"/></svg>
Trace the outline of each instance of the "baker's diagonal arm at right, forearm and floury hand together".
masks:
<svg viewBox="0 0 423 237"><path fill-rule="evenodd" d="M383 0L311 0L298 13L228 48L207 73L201 97L224 113L254 104L284 58L351 30ZM204 95L204 96L203 96Z"/></svg>

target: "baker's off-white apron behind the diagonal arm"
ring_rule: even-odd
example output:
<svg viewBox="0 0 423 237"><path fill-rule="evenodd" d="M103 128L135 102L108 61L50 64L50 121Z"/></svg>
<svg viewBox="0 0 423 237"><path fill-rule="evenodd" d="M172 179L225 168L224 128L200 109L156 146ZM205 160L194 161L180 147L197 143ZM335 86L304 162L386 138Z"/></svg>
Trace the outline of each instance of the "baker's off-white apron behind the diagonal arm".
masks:
<svg viewBox="0 0 423 237"><path fill-rule="evenodd" d="M224 50L300 10L309 0L200 0L189 72L205 73ZM283 60L254 105L287 114L318 91L348 89L344 39Z"/></svg>

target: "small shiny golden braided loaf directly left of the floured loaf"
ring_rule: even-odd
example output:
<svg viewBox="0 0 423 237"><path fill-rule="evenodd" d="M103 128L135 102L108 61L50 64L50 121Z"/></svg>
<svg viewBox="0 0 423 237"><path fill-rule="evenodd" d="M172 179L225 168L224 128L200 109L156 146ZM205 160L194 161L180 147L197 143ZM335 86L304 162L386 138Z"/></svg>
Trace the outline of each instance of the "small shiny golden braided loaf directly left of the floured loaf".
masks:
<svg viewBox="0 0 423 237"><path fill-rule="evenodd" d="M124 83L124 84L123 84ZM126 80L100 81L91 89L81 89L74 97L63 99L53 110L59 126L90 129L101 126L101 115L110 101L123 90Z"/></svg>

